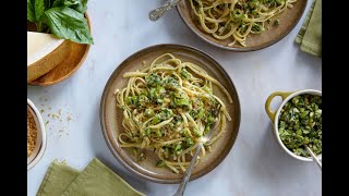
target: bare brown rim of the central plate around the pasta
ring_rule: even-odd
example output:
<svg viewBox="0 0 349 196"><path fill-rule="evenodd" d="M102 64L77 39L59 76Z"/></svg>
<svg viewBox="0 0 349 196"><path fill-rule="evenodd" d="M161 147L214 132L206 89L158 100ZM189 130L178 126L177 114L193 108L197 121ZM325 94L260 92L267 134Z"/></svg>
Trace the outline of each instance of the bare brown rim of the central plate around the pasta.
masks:
<svg viewBox="0 0 349 196"><path fill-rule="evenodd" d="M143 61L145 61L146 64L149 64L156 57L166 52L171 52L182 61L190 61L205 69L209 75L217 78L227 88L233 100L233 103L229 105L224 93L217 86L214 86L215 94L226 102L232 121L227 121L226 132L214 143L212 152L205 156L202 161L195 166L191 180L205 175L225 159L234 144L240 125L240 102L238 93L229 75L213 58L205 54L203 51L191 47L180 45L156 45L145 48L124 60L111 74L104 89L100 102L100 123L109 149L130 172L157 183L179 183L182 173L176 174L170 169L156 168L155 164L158 161L158 158L153 150L146 151L147 158L145 161L137 162L131 152L131 148L120 148L117 139L118 134L122 132L123 128L121 125L122 111L116 107L117 100L113 93L116 88L122 89L125 87L128 78L123 78L122 75L125 72L135 71L142 68Z"/></svg>

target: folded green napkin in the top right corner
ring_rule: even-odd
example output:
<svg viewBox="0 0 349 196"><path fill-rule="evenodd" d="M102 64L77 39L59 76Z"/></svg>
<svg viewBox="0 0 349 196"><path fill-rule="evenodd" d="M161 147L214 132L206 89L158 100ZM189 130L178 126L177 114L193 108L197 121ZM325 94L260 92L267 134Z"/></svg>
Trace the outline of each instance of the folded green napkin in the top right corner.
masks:
<svg viewBox="0 0 349 196"><path fill-rule="evenodd" d="M322 0L314 0L308 12L296 42L302 51L322 57Z"/></svg>

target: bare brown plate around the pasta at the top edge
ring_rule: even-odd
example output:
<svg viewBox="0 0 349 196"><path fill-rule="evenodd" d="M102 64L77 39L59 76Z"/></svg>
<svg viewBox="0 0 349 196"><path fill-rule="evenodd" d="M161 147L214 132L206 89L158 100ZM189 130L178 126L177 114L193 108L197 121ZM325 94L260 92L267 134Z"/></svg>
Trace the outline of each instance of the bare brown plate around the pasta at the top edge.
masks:
<svg viewBox="0 0 349 196"><path fill-rule="evenodd" d="M298 0L296 3L293 3L292 9L287 9L285 12L273 17L272 23L268 25L270 27L268 30L257 35L250 34L251 36L246 38L246 47L242 47L239 44L236 44L232 47L228 47L228 44L231 42L230 38L218 40L215 39L212 35L204 33L200 24L194 21L195 15L193 14L190 2L188 0L181 1L177 5L177 11L186 26L205 41L226 50L243 52L258 50L272 46L287 36L301 19L306 7L306 1L308 0ZM272 24L277 19L279 19L280 24L276 27Z"/></svg>

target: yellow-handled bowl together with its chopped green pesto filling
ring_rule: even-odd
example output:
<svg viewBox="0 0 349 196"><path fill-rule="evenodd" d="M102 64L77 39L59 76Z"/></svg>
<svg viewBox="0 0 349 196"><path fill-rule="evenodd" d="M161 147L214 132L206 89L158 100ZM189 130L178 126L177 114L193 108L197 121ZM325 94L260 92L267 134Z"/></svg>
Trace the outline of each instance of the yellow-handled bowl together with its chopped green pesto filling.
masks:
<svg viewBox="0 0 349 196"><path fill-rule="evenodd" d="M275 97L282 102L272 111ZM274 123L273 133L281 148L291 157L313 161L305 149L308 145L322 159L322 93L315 89L274 91L265 102L265 110Z"/></svg>

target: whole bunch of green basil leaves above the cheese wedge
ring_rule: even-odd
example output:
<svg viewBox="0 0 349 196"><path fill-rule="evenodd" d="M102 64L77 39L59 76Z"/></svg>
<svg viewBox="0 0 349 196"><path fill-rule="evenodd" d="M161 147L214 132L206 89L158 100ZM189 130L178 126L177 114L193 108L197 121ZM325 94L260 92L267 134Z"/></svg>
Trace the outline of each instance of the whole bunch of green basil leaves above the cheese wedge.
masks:
<svg viewBox="0 0 349 196"><path fill-rule="evenodd" d="M38 32L93 45L86 10L87 0L27 0L27 20L36 24Z"/></svg>

